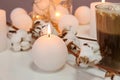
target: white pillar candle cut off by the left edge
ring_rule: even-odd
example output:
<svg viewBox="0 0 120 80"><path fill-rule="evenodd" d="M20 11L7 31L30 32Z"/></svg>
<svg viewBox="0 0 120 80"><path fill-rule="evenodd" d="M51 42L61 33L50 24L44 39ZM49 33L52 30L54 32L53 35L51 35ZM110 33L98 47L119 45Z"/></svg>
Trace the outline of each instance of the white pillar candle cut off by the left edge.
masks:
<svg viewBox="0 0 120 80"><path fill-rule="evenodd" d="M0 9L0 52L7 48L6 12Z"/></svg>

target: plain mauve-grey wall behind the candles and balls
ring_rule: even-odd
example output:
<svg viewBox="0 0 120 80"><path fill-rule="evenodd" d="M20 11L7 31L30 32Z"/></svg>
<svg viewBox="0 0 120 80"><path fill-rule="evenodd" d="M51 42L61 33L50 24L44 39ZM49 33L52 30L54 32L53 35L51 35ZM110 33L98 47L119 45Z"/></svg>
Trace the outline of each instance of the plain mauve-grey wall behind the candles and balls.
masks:
<svg viewBox="0 0 120 80"><path fill-rule="evenodd" d="M21 7L28 12L32 11L32 4L34 0L0 0L0 9L5 9L7 11L7 20L9 21L9 14L12 9L16 7ZM73 12L79 6L90 6L91 2L98 2L101 0L72 0L73 1ZM120 0L106 0L107 2L120 2Z"/></svg>

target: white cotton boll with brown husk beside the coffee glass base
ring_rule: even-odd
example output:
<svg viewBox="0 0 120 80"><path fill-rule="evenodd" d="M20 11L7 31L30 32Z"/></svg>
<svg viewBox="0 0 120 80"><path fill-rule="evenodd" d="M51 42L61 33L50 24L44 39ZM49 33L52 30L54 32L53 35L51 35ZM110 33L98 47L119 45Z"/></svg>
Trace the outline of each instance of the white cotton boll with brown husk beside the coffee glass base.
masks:
<svg viewBox="0 0 120 80"><path fill-rule="evenodd" d="M99 45L96 46L92 43L84 43L81 46L81 52L79 57L81 58L81 67L88 67L91 64L99 63L99 61L102 59L102 56L99 51Z"/></svg>

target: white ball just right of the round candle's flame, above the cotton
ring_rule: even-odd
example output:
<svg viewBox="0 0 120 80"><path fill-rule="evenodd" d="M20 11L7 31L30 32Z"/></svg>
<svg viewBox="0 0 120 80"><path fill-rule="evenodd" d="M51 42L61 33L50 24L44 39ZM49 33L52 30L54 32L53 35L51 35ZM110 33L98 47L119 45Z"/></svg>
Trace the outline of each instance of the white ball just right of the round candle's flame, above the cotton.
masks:
<svg viewBox="0 0 120 80"><path fill-rule="evenodd" d="M60 21L59 21L59 27L60 27L60 30L73 30L73 31L76 31L78 25L79 25L79 22L77 20L77 18L73 15L65 15L63 16Z"/></svg>

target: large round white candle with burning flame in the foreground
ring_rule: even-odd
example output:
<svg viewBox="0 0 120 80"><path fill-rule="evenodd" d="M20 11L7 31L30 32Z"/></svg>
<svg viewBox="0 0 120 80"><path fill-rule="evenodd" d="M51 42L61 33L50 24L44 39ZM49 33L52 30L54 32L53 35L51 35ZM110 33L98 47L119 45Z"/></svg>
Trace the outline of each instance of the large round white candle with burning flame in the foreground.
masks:
<svg viewBox="0 0 120 80"><path fill-rule="evenodd" d="M43 71L56 71L66 62L68 51L63 40L50 32L36 40L32 47L34 63Z"/></svg>

